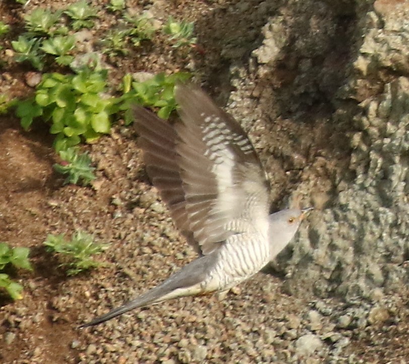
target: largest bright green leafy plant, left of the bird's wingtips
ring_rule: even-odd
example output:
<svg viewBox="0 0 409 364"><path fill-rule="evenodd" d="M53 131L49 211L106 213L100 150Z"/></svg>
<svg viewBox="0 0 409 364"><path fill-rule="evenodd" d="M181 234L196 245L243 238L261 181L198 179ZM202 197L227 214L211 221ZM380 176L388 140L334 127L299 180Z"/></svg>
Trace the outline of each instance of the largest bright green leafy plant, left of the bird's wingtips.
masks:
<svg viewBox="0 0 409 364"><path fill-rule="evenodd" d="M79 144L81 138L92 142L109 133L119 100L104 95L106 76L106 71L89 68L78 74L44 73L35 97L17 104L22 127L28 130L38 116L50 122L57 151Z"/></svg>

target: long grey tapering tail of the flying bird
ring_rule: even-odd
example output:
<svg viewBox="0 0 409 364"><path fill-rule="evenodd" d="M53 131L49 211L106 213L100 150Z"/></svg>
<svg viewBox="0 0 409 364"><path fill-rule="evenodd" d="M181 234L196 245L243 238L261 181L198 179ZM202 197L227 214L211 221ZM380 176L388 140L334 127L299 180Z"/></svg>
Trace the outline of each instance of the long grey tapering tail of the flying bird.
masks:
<svg viewBox="0 0 409 364"><path fill-rule="evenodd" d="M203 283L209 277L208 273L214 263L215 256L213 254L201 256L185 265L159 286L80 327L97 325L134 308L157 304L177 297L207 293Z"/></svg>

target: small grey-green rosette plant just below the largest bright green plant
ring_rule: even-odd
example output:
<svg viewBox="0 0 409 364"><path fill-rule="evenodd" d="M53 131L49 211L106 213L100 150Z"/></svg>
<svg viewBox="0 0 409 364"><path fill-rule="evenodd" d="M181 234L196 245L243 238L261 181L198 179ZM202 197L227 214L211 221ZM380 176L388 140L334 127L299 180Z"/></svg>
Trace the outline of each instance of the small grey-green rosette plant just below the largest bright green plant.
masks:
<svg viewBox="0 0 409 364"><path fill-rule="evenodd" d="M75 147L60 150L59 156L62 163L54 164L54 169L61 174L68 174L64 180L64 184L77 185L82 181L83 186L87 186L95 179L94 169L91 166L91 158L88 153L79 153Z"/></svg>

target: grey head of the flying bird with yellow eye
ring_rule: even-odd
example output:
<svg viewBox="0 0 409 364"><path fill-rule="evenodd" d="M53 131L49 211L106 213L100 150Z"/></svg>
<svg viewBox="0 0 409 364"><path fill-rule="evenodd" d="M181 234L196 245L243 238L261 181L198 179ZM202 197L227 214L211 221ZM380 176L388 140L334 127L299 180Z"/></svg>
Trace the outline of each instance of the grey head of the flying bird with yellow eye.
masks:
<svg viewBox="0 0 409 364"><path fill-rule="evenodd" d="M281 250L291 241L308 209L286 209L268 216L270 258L274 259Z"/></svg>

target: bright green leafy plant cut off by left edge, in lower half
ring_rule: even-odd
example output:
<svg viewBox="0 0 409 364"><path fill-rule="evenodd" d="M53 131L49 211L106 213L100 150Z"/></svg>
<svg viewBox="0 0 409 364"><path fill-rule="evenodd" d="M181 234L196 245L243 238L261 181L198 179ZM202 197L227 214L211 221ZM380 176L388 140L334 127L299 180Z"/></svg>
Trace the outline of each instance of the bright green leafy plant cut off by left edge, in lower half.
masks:
<svg viewBox="0 0 409 364"><path fill-rule="evenodd" d="M4 242L0 243L0 271L3 271L8 264L16 268L32 270L30 261L28 260L29 253L29 248L11 248ZM23 298L21 294L23 287L11 280L6 273L0 273L0 288L6 289L10 297L14 300L21 300Z"/></svg>

